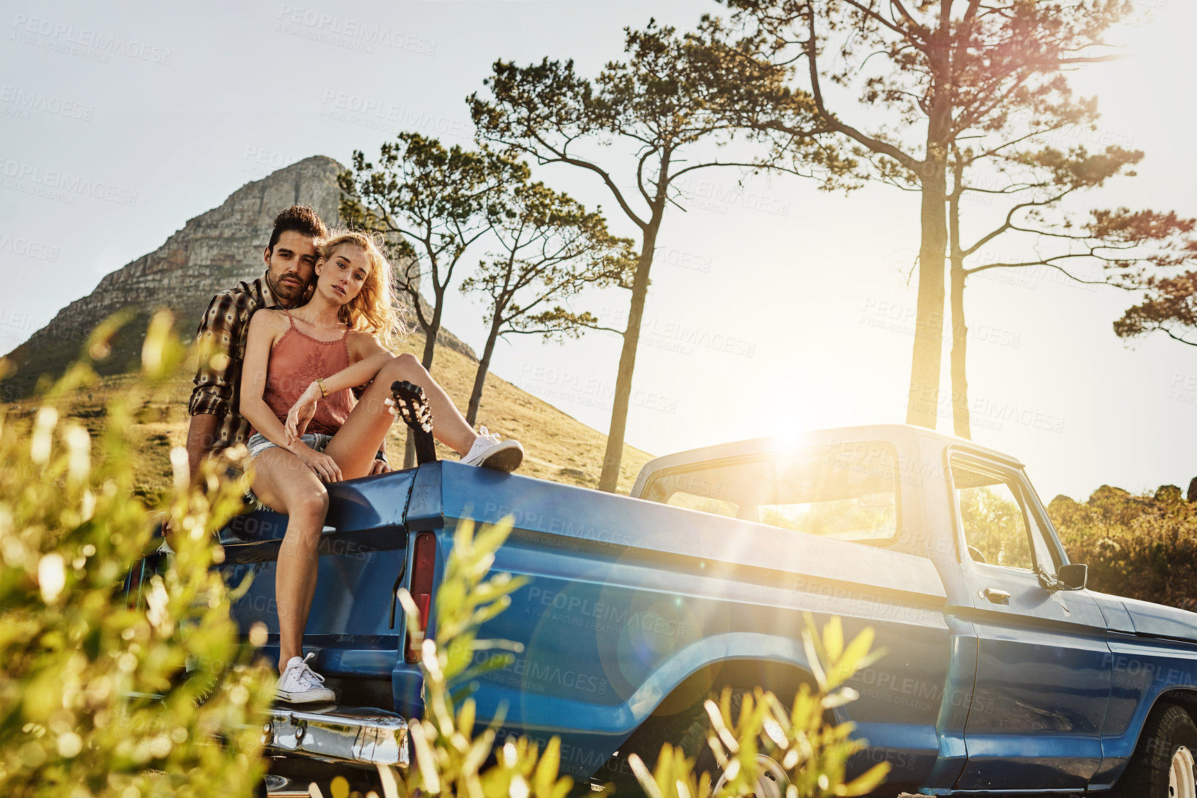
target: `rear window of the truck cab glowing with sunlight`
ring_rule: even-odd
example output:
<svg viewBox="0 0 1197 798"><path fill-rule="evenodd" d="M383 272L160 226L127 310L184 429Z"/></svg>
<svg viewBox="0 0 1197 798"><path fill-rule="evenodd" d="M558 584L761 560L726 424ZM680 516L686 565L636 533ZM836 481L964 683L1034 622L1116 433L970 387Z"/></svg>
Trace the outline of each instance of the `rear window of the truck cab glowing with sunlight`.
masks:
<svg viewBox="0 0 1197 798"><path fill-rule="evenodd" d="M771 452L668 469L644 498L844 541L898 529L897 453L886 443Z"/></svg>

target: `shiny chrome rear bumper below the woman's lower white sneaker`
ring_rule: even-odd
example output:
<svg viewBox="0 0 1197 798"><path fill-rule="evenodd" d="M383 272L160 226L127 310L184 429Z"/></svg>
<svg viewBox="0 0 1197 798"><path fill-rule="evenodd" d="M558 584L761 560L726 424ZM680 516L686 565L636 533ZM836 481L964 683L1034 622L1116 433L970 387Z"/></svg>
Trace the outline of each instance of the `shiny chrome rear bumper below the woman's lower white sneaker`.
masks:
<svg viewBox="0 0 1197 798"><path fill-rule="evenodd" d="M372 707L273 707L262 743L326 762L408 766L407 720Z"/></svg>

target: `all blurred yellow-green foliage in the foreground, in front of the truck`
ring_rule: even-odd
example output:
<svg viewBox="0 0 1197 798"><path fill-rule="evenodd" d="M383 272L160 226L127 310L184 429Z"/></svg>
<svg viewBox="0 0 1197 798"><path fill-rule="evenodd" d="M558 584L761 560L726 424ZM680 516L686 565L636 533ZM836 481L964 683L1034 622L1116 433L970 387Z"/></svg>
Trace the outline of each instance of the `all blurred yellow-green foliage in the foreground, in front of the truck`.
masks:
<svg viewBox="0 0 1197 798"><path fill-rule="evenodd" d="M211 569L224 558L213 534L241 510L241 488L211 468L202 471L206 489L192 488L180 447L171 452L171 497L147 507L133 493L127 431L184 357L170 316L152 319L140 379L110 403L95 441L60 418L63 396L97 379L92 363L119 325L96 330L83 360L32 416L0 416L0 796L250 796L266 770L261 714L275 674L251 662L265 627L255 625L247 644L229 616L245 585L230 589ZM130 609L123 578L154 547L164 517L175 554L144 586L145 605ZM518 647L476 636L524 584L491 573L510 530L510 523L476 537L470 524L455 530L437 593L437 635L423 641L427 709L411 726L417 767L379 769L388 798L563 798L572 787L559 778L555 738L543 751L527 739L497 741L502 719L475 730L474 702L462 695L478 672L469 668L475 651L500 650L482 665L497 668ZM417 611L409 596L400 598L409 615ZM821 635L808 619L803 638L818 684L792 707L758 689L742 696L737 717L729 693L709 700L706 743L717 773L695 774L694 759L667 744L652 773L632 757L644 792L745 796L770 765L784 770L788 798L863 794L880 784L885 763L845 784L847 759L863 743L850 739L851 724L825 723L832 707L855 698L844 682L875 660L871 632L845 645L838 619ZM342 778L330 787L338 798L348 792ZM321 794L316 785L311 794Z"/></svg>

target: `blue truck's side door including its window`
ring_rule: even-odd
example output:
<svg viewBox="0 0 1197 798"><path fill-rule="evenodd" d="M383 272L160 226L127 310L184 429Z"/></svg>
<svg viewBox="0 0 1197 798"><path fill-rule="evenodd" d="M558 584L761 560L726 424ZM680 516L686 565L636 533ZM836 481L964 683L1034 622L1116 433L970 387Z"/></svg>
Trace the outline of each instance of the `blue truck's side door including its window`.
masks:
<svg viewBox="0 0 1197 798"><path fill-rule="evenodd" d="M1021 468L950 455L977 681L961 790L1083 790L1101 763L1110 650L1096 602L1051 589L1067 562Z"/></svg>

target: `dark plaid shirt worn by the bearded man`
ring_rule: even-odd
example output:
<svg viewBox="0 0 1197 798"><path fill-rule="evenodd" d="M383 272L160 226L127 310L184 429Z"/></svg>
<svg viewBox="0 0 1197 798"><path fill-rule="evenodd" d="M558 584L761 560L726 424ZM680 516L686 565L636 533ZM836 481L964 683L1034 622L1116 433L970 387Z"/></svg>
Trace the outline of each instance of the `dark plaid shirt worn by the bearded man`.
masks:
<svg viewBox="0 0 1197 798"><path fill-rule="evenodd" d="M245 337L254 311L274 304L265 274L251 282L242 280L212 298L195 331L200 368L187 410L192 415L217 416L215 440L209 445L213 452L249 440L249 421L239 412Z"/></svg>

